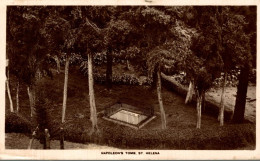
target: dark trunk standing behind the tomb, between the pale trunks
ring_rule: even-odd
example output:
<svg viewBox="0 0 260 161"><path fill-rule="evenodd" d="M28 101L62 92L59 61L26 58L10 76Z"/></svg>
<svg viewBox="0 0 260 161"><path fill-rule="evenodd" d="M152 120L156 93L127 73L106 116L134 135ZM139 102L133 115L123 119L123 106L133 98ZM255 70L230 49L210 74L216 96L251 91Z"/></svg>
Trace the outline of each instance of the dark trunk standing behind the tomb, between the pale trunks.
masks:
<svg viewBox="0 0 260 161"><path fill-rule="evenodd" d="M107 70L106 70L106 84L107 89L112 88L112 65L113 65L113 56L111 49L107 51Z"/></svg>

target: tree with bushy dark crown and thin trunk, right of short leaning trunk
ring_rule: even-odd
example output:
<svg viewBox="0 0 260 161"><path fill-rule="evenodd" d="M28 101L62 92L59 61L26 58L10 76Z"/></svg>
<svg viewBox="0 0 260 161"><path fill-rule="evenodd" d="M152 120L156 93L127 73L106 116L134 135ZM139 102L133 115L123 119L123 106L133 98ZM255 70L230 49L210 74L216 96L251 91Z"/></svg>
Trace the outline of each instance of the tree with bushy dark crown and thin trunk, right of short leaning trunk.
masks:
<svg viewBox="0 0 260 161"><path fill-rule="evenodd" d="M197 98L197 128L201 127L201 106L205 92L212 82L220 76L223 67L219 28L216 25L216 7L194 7L194 24L197 36L193 39L192 54L186 59L186 73Z"/></svg>

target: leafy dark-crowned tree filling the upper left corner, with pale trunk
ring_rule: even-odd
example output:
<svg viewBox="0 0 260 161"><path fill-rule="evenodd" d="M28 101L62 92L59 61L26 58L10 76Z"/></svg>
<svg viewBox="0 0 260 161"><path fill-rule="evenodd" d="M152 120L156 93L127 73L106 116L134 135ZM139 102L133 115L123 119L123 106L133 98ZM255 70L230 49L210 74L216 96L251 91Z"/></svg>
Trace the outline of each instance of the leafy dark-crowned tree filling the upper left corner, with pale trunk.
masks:
<svg viewBox="0 0 260 161"><path fill-rule="evenodd" d="M45 7L13 6L7 11L7 55L10 58L10 71L17 77L18 83L24 82L28 86L31 116L34 115L37 81L43 71L51 74L46 63L47 48L44 46L46 42L42 30L47 13Z"/></svg>

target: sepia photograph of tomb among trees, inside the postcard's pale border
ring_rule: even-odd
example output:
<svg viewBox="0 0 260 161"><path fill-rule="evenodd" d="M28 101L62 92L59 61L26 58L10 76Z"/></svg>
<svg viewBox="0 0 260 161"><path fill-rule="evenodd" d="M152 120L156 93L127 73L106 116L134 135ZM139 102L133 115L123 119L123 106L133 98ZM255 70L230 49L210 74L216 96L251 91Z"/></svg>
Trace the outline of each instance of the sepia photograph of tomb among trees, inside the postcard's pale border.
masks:
<svg viewBox="0 0 260 161"><path fill-rule="evenodd" d="M7 5L4 148L253 152L256 31L256 5Z"/></svg>

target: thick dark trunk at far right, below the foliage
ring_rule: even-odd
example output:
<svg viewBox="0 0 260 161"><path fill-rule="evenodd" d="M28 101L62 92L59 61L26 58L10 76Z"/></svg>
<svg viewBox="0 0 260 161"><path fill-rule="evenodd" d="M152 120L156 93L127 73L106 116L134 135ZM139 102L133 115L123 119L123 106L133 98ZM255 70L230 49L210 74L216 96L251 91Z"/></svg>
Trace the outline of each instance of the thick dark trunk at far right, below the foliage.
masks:
<svg viewBox="0 0 260 161"><path fill-rule="evenodd" d="M233 116L233 122L242 123L244 121L246 95L248 87L249 66L241 69L237 86L237 97Z"/></svg>

